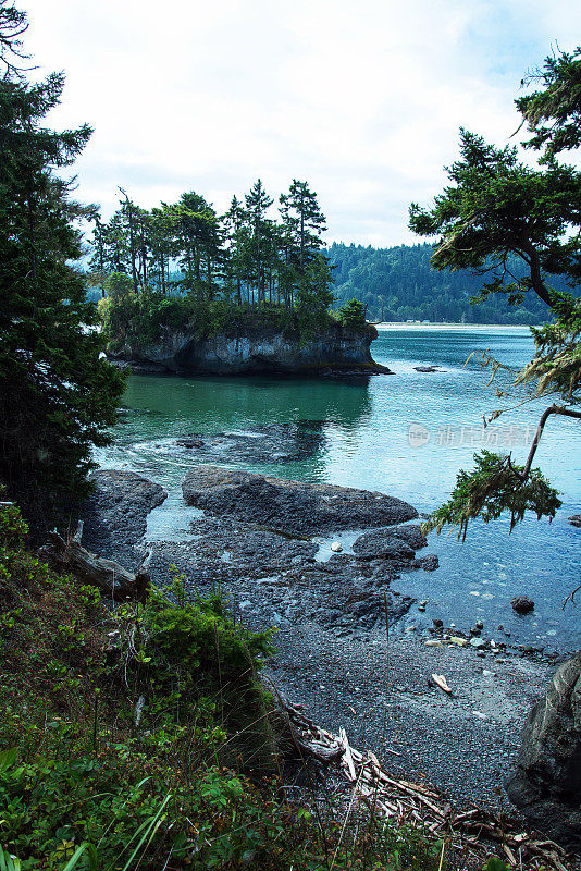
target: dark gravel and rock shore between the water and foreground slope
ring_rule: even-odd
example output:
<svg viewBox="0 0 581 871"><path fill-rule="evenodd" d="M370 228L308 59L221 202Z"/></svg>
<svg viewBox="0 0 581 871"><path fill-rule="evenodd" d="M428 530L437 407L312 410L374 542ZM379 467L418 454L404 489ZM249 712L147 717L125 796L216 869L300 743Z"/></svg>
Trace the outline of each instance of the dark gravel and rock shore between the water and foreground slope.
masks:
<svg viewBox="0 0 581 871"><path fill-rule="evenodd" d="M146 547L147 513L164 498L160 488L132 475L97 473L83 538L86 547L129 569ZM269 479L269 488L275 486L272 481L276 479ZM132 496L135 487L137 502ZM247 500L247 477L243 490ZM336 498L337 489L330 488L330 493ZM360 493L341 493L343 515L349 510L344 500L360 500ZM114 512L106 510L112 494ZM193 510L188 541L154 542L153 582L163 585L177 571L201 593L219 587L246 625L276 626L277 651L265 675L289 701L302 703L316 722L331 732L345 727L354 746L373 750L395 774L424 778L460 806L472 800L495 810L507 808L503 783L515 762L522 723L543 695L554 665L515 652L496 650L492 655L490 648L470 643L442 643L445 628L423 635L404 631L403 618L410 609L418 610L418 603L398 593L397 579L401 572L434 567L429 559L415 557L417 532L407 532L411 551L409 544L407 551L391 551L394 539L382 541L373 532L362 539L359 556L354 550L333 554L320 539L317 543L309 537L286 537L280 528L236 517L236 493L228 494L230 514L223 507L221 516ZM269 498L275 496L269 489ZM318 511L327 529L330 496L321 491L319 496L323 503ZM381 499L376 503L385 511ZM396 505L404 520L413 516L405 504ZM369 527L385 523L381 516L376 523L368 520ZM387 533L394 536L395 527ZM370 542L376 542L378 554L370 551ZM432 674L446 677L452 696L434 685Z"/></svg>

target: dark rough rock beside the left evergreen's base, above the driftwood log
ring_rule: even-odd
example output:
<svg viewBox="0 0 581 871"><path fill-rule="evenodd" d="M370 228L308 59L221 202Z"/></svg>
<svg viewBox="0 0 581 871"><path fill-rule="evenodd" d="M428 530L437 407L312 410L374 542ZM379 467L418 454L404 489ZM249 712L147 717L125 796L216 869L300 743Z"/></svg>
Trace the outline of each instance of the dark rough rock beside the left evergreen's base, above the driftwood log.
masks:
<svg viewBox="0 0 581 871"><path fill-rule="evenodd" d="M95 491L83 511L83 543L97 552L108 551L113 539L118 549L139 541L147 515L168 496L163 487L135 471L99 469L90 480Z"/></svg>

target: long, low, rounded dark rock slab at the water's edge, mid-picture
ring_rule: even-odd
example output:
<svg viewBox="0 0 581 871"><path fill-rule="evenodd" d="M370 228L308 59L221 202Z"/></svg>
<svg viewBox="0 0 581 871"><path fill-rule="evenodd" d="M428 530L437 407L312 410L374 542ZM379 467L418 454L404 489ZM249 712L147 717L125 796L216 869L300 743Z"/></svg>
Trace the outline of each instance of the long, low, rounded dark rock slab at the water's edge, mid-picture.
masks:
<svg viewBox="0 0 581 871"><path fill-rule="evenodd" d="M189 471L182 492L188 505L210 514L230 515L289 533L387 526L418 516L412 505L384 493L288 481L217 466L198 466Z"/></svg>

